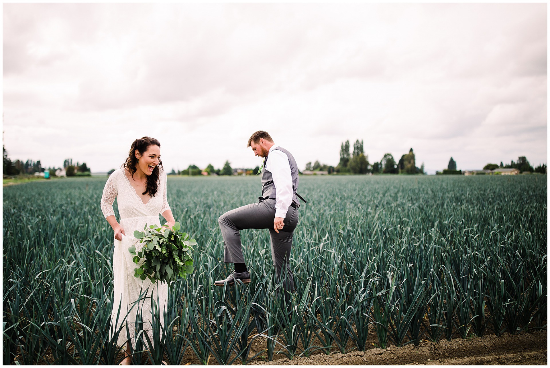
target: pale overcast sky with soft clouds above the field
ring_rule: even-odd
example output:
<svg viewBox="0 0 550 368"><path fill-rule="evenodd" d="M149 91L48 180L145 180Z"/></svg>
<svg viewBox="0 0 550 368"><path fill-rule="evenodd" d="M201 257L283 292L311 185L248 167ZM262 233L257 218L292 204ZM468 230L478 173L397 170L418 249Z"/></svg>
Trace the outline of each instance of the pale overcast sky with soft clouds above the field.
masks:
<svg viewBox="0 0 550 368"><path fill-rule="evenodd" d="M547 161L547 4L3 4L9 157L119 168L254 167L266 130L337 165L412 147L417 166Z"/></svg>

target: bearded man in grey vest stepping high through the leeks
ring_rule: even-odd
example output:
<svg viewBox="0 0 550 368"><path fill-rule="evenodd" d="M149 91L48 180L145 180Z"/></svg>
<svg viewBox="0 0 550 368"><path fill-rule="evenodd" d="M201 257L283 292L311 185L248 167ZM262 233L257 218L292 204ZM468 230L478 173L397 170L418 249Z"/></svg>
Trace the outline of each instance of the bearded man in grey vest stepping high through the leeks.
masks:
<svg viewBox="0 0 550 368"><path fill-rule="evenodd" d="M259 130L252 134L246 147L251 147L256 156L265 157L262 165L262 196L259 197L259 203L248 204L219 216L225 247L223 261L234 263L235 271L225 280L217 280L214 285L233 285L237 279L244 283L250 282L239 231L245 228L267 228L271 235L271 255L277 281L282 281L285 291L292 292L294 278L289 259L300 207L296 198L298 166L292 154L273 143L265 131ZM285 295L285 299L287 297Z"/></svg>

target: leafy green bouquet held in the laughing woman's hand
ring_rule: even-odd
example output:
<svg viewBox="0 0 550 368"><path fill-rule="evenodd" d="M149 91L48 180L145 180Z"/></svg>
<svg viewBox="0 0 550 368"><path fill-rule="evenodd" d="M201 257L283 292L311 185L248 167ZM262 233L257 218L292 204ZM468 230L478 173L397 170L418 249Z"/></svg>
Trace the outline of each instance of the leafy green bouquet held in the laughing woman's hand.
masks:
<svg viewBox="0 0 550 368"><path fill-rule="evenodd" d="M134 256L134 263L139 265L134 269L135 277L145 280L148 277L155 281L177 280L179 276L187 278L193 272L193 246L195 239L189 234L179 232L179 222L172 229L145 225L144 231L135 231L134 237L144 243L143 248L136 253L135 246L128 248Z"/></svg>

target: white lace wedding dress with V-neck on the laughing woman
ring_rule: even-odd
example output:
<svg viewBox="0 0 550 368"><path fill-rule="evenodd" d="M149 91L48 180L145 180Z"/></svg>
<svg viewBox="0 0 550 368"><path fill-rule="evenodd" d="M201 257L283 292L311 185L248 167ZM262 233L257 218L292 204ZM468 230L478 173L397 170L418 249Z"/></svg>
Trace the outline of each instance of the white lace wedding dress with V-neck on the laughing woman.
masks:
<svg viewBox="0 0 550 368"><path fill-rule="evenodd" d="M158 215L170 209L170 207L166 199L166 174L164 171L161 171L159 176L160 182L157 193L149 199L149 202L144 204L134 187L130 185L124 170L124 168L118 169L109 176L101 197L101 210L106 218L114 215L113 202L117 198L118 213L120 215L119 223L126 235L122 236L122 241L114 239L112 328L117 331L122 326L118 337L118 345L122 346L129 340L125 327L125 323L128 323L131 344L135 347L134 322L138 310L142 313L142 321L145 322L142 328L147 331L151 342L153 341L150 325L152 321L151 299L158 304L158 310L161 311L160 321L162 325L164 324L162 310L166 309L168 301L168 285L166 282L153 284L148 278L142 281L140 278L134 277L136 264L132 260L133 255L128 252L128 248L134 245L136 252L139 252L143 244L139 244L138 240L134 238L134 231L144 230L145 225L158 226L160 223ZM140 294L143 292L146 292L146 298L143 298L142 295L140 299ZM120 313L118 311L119 305ZM127 313L127 321L124 321L123 324L124 316ZM148 348L147 339L143 338L143 340L146 348Z"/></svg>

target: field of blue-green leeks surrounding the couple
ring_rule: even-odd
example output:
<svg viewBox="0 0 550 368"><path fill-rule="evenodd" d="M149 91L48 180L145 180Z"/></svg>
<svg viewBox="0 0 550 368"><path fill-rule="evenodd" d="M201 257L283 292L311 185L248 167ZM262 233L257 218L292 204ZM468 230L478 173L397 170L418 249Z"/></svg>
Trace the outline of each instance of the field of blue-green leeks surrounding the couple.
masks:
<svg viewBox="0 0 550 368"><path fill-rule="evenodd" d="M123 358L109 333L105 182L3 188L4 364ZM308 203L294 233L287 313L267 230L241 231L252 282L213 287L232 271L218 217L256 202L260 177L169 177L175 219L198 242L195 271L170 286L165 323L152 324L155 348L141 333L134 363L186 364L192 354L247 364L546 329L546 175L301 176L298 193Z"/></svg>

